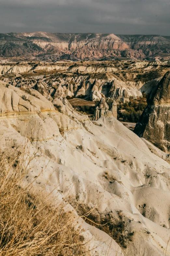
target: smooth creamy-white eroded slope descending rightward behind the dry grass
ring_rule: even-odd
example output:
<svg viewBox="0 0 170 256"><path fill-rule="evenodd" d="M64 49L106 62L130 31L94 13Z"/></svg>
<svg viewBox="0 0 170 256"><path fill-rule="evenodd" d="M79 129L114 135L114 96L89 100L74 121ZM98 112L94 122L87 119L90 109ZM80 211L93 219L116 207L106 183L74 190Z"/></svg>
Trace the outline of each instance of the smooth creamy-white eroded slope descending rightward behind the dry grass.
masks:
<svg viewBox="0 0 170 256"><path fill-rule="evenodd" d="M0 81L0 135L1 150L16 150L26 142L27 154L37 151L26 182L35 179L35 185L49 191L57 187L59 200L64 196L73 206L96 206L96 222L99 215L119 218L121 213L123 234L134 232L122 254L106 233L82 222L84 235L99 245L97 255L165 254L170 165L114 117L91 122L67 100L50 102L34 89L27 94Z"/></svg>

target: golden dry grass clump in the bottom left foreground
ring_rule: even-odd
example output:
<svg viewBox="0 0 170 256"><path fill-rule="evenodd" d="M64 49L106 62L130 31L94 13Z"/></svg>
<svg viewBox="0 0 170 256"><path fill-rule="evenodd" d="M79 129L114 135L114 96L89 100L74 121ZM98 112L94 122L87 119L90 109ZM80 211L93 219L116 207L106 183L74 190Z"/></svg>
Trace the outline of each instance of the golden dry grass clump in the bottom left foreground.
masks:
<svg viewBox="0 0 170 256"><path fill-rule="evenodd" d="M0 156L0 256L87 255L83 230L73 212L64 211L64 198L56 207L32 185L21 186L25 164L22 154Z"/></svg>

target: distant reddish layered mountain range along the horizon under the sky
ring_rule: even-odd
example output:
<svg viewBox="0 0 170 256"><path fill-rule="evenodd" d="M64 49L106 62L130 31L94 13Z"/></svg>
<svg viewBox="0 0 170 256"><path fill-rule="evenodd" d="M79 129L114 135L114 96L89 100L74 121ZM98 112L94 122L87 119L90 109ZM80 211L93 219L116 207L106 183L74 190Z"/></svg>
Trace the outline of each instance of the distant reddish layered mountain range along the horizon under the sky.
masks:
<svg viewBox="0 0 170 256"><path fill-rule="evenodd" d="M170 59L170 36L99 33L0 34L0 57L34 60Z"/></svg>

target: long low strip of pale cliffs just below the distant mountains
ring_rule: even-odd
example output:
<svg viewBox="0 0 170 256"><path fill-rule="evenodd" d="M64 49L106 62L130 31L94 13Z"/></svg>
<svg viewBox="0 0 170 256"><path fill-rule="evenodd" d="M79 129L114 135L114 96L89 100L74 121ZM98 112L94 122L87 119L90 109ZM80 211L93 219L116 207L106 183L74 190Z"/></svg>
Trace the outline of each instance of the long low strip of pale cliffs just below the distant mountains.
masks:
<svg viewBox="0 0 170 256"><path fill-rule="evenodd" d="M7 59L6 59L7 61ZM6 61L3 63L0 63L0 75L4 74L20 74L20 73L33 73L33 72L59 72L59 73L84 73L84 74L94 74L94 73L114 73L116 71L122 70L123 66L122 64L128 64L127 61L120 62L119 67L115 67L112 61L108 61L108 63L103 62L99 64L95 64L95 62L89 63L88 61L84 61L83 63L78 62L65 62L57 61L57 63L53 62L40 62L33 61L33 62L19 62L19 63L13 63ZM160 67L168 67L170 65L170 60L164 60L164 61L135 61L131 63L129 61L128 67L124 67L125 70L138 70L143 68L143 70L149 70L151 69L159 69Z"/></svg>

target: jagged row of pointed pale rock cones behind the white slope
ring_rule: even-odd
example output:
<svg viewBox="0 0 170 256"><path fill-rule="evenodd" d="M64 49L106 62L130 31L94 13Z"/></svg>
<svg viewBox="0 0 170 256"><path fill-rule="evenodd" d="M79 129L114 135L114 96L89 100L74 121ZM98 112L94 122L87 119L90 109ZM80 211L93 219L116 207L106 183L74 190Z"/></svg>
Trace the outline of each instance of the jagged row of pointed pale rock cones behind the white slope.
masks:
<svg viewBox="0 0 170 256"><path fill-rule="evenodd" d="M100 100L102 94L117 101L129 102L129 98L136 99L142 97L140 92L141 82L123 82L116 79L113 75L109 78L97 79L89 76L66 76L60 77L43 77L34 76L30 78L5 78L4 81L15 87L23 89L35 89L43 96L59 97L85 97L92 101ZM51 100L51 97L47 97Z"/></svg>

